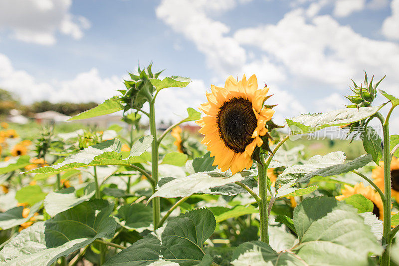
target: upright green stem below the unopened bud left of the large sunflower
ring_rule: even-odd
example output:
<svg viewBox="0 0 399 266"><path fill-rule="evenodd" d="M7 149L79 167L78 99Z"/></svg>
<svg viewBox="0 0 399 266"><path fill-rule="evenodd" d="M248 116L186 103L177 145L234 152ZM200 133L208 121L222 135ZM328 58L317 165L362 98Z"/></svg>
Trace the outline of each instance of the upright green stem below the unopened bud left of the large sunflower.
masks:
<svg viewBox="0 0 399 266"><path fill-rule="evenodd" d="M157 140L157 126L155 123L155 97L152 101L150 101L150 131L151 135L153 135L153 143L151 144L151 157L152 157L152 179L154 183L152 183L153 194L157 188L158 183L158 140ZM161 219L161 207L160 207L160 198L156 197L152 200L153 202L153 224L154 230L158 229L158 224Z"/></svg>

